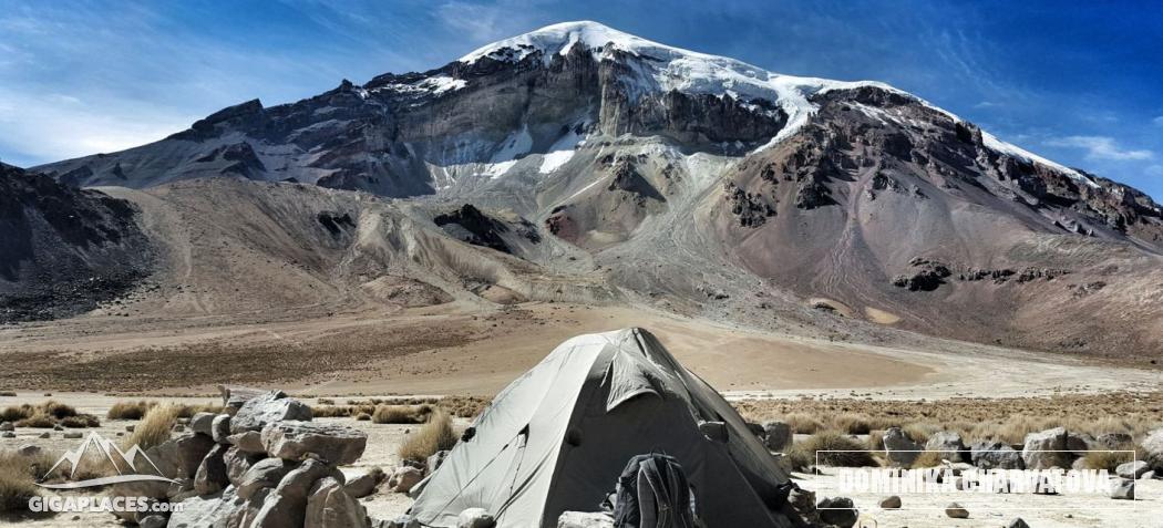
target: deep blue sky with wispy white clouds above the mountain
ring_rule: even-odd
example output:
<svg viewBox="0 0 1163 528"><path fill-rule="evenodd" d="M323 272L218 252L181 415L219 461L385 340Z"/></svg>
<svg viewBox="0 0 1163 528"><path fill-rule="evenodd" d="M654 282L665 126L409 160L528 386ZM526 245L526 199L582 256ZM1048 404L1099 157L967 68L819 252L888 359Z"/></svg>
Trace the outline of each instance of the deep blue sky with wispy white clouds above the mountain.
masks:
<svg viewBox="0 0 1163 528"><path fill-rule="evenodd" d="M422 71L566 20L791 74L875 79L1163 200L1157 2L0 0L0 159L34 165Z"/></svg>

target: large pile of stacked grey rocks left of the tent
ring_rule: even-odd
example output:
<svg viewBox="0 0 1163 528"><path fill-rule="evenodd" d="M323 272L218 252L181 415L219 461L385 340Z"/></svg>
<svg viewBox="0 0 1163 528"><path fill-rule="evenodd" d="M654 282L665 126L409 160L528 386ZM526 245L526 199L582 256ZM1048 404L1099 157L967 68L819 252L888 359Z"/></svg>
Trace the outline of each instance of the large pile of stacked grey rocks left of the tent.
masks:
<svg viewBox="0 0 1163 528"><path fill-rule="evenodd" d="M338 470L366 443L357 429L313 422L309 407L280 391L257 393L228 401L227 414L194 415L187 433L145 451L179 484L131 483L114 494L181 502L169 520L134 519L142 526L370 527L358 497L376 477L349 485Z"/></svg>

